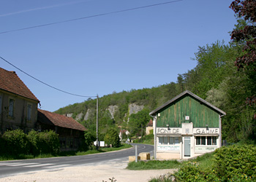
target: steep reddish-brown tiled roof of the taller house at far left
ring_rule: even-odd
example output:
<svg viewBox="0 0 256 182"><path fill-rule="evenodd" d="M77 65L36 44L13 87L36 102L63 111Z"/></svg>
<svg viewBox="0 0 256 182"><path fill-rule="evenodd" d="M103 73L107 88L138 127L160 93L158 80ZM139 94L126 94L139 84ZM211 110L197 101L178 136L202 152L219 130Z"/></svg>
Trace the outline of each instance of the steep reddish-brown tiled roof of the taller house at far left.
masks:
<svg viewBox="0 0 256 182"><path fill-rule="evenodd" d="M7 71L0 68L0 90L5 90L7 92L12 92L16 95L29 98L31 100L39 100L36 96L26 87L15 71Z"/></svg>

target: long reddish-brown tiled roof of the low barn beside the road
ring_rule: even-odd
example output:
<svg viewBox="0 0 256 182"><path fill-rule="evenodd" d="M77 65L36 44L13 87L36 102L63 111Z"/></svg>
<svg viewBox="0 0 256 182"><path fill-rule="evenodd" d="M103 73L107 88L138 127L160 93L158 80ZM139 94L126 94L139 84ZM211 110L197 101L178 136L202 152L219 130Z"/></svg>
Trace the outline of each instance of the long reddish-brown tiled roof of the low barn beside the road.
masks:
<svg viewBox="0 0 256 182"><path fill-rule="evenodd" d="M50 111L45 111L42 109L38 109L38 121L45 123L45 124L53 124L58 127L66 127L73 130L81 130L85 131L87 130L86 127L84 127L79 122L75 121L75 119L72 119L71 117L67 117L61 114L52 113Z"/></svg>

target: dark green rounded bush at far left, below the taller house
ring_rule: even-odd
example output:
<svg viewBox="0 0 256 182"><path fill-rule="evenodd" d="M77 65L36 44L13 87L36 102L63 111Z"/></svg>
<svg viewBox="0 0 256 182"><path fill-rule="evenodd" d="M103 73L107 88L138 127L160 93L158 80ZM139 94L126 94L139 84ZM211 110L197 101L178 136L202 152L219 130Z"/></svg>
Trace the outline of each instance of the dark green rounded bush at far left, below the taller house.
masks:
<svg viewBox="0 0 256 182"><path fill-rule="evenodd" d="M29 141L23 130L8 130L2 135L2 140L4 141L5 154L12 156L29 154Z"/></svg>

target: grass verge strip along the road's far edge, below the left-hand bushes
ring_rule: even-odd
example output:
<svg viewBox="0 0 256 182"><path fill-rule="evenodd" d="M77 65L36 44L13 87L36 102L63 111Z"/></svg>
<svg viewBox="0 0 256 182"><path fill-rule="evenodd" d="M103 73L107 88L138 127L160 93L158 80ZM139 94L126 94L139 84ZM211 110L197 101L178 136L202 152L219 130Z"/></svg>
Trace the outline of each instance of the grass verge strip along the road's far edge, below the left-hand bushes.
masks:
<svg viewBox="0 0 256 182"><path fill-rule="evenodd" d="M20 154L17 156L11 155L4 155L0 156L0 161L7 161L7 160L15 160L15 159L40 159L40 158L50 158L50 157L69 157L69 156L82 156L82 155L89 155L89 154L98 154L108 151L119 151L121 149L128 149L132 147L131 145L124 143L119 147L112 147L112 148L99 148L99 150L88 150L88 151L62 151L59 154L39 154L37 156L33 155L24 155Z"/></svg>

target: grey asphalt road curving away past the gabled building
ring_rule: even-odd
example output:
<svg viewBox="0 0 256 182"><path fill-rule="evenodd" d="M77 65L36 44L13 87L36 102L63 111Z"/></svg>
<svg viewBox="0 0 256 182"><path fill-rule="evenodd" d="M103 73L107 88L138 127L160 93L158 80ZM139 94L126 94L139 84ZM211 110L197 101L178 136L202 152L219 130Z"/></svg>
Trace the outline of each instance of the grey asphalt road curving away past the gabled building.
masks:
<svg viewBox="0 0 256 182"><path fill-rule="evenodd" d="M151 156L153 156L154 146L144 144L132 145L138 146L138 154L140 154L140 152L150 152ZM38 170L57 170L63 167L89 165L96 162L108 162L113 159L127 158L128 160L129 156L135 156L135 147L121 151L90 154L86 156L3 161L0 162L0 178L17 175L18 173L31 173Z"/></svg>

